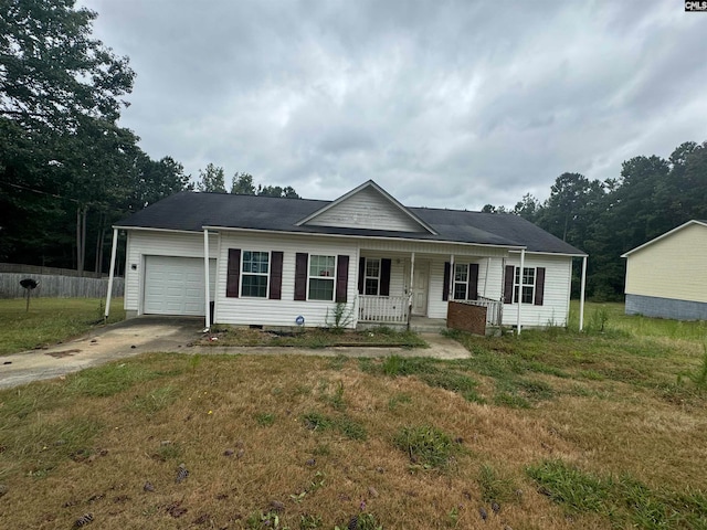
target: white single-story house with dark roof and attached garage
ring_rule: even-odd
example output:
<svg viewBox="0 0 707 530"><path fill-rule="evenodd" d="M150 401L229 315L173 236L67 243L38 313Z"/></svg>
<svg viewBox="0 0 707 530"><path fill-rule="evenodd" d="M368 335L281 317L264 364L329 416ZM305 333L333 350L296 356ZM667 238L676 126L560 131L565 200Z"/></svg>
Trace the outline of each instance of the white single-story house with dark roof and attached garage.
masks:
<svg viewBox="0 0 707 530"><path fill-rule="evenodd" d="M233 325L327 326L337 304L348 327L408 325L454 299L490 325L564 326L587 256L518 215L405 208L373 181L335 201L182 192L114 229L128 316Z"/></svg>

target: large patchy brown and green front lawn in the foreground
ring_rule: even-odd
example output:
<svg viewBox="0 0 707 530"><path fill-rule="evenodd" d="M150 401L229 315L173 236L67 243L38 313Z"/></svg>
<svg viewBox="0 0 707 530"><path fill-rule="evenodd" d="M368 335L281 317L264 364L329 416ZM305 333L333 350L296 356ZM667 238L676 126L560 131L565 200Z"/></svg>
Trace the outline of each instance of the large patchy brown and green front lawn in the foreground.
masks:
<svg viewBox="0 0 707 530"><path fill-rule="evenodd" d="M704 324L587 322L454 333L456 361L152 353L2 391L0 528L706 529Z"/></svg>

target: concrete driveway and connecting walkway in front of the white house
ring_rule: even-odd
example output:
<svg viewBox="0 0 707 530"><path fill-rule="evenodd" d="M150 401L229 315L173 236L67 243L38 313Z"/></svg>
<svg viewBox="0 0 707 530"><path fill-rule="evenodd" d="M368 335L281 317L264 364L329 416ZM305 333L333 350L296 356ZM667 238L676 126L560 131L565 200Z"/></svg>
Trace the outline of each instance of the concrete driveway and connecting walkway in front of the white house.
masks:
<svg viewBox="0 0 707 530"><path fill-rule="evenodd" d="M192 346L202 337L203 320L192 318L140 317L97 328L77 339L50 348L0 356L0 389L52 379L88 367L150 351L200 354L319 356L319 357L432 357L466 359L468 351L439 333L420 333L430 348L289 348Z"/></svg>

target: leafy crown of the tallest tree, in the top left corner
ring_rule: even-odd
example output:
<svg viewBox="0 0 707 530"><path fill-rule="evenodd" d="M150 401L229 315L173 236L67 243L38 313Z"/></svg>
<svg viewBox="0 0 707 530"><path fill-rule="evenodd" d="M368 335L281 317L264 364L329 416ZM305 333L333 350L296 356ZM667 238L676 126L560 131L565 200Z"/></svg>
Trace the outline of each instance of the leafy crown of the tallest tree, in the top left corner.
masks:
<svg viewBox="0 0 707 530"><path fill-rule="evenodd" d="M92 39L96 17L74 0L0 2L0 114L60 130L78 116L119 117L135 73Z"/></svg>

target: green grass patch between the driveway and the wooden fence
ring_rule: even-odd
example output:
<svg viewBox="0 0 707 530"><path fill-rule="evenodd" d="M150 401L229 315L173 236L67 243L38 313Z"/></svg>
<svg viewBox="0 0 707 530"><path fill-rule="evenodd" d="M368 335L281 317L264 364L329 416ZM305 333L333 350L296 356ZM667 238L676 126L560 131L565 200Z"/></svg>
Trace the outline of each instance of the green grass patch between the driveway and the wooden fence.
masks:
<svg viewBox="0 0 707 530"><path fill-rule="evenodd" d="M0 354L31 350L76 337L103 322L104 299L0 299ZM123 298L110 303L110 322L125 319Z"/></svg>

